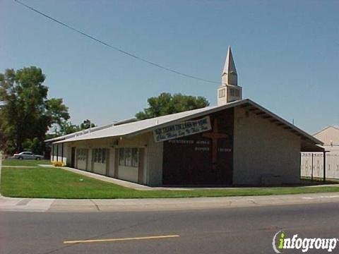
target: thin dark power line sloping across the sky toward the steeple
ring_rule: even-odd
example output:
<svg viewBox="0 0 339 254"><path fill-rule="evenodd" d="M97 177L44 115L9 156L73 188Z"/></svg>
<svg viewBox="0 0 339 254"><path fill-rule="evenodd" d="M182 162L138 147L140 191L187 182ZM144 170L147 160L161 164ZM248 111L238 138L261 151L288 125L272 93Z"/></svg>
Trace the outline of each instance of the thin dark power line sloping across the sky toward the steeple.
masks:
<svg viewBox="0 0 339 254"><path fill-rule="evenodd" d="M22 6L25 6L25 7L28 8L28 9L30 9L30 11L34 11L35 13L38 13L38 14L40 14L41 16L44 16L44 18L48 18L49 20L52 20L52 21L58 23L59 25L64 26L65 28L69 28L70 30L73 30L73 32L77 32L77 33L79 33L79 34L81 34L81 35L83 35L83 36L85 36L85 37L88 37L90 40L94 40L95 42L98 42L98 43L100 43L100 44L103 44L103 45L105 45L106 47L109 47L109 48L111 48L111 49L114 49L114 50L116 50L116 51L118 51L118 52L120 52L120 53L122 53L122 54L127 55L127 56L133 57L134 59L137 59L137 60L139 60L139 61L143 61L144 63L148 63L148 64L150 64L150 65L152 65L152 66L157 67L157 68L162 68L162 69L165 70L165 71L170 71L170 72L172 72L172 73L176 73L176 74L178 74L178 75L182 75L182 76L184 76L184 77L186 77L186 78L193 78L193 79L195 79L195 80L201 80L201 81L208 82L208 83L216 83L216 84L218 84L218 82L215 82L215 81L213 81L213 80L206 80L206 79L204 79L204 78L199 78L199 77L196 77L196 76L194 76L194 75L189 75L189 74L186 74L186 73L182 73L182 72L176 71L176 70L174 70L174 69L172 69L172 68L168 68L168 67L162 66L162 65L159 64L159 63L155 63L155 62L153 62L153 61L149 61L149 60L147 60L147 59L144 59L144 58L142 58L142 57L140 57L140 56L136 56L135 54L131 54L131 53L129 53L129 52L126 52L126 51L124 51L123 49L120 49L119 47L115 47L115 46L113 46L113 45L111 45L111 44L109 44L109 43L107 43L107 42L103 42L102 40L99 40L99 39L93 37L92 35L88 35L87 33L82 32L81 30L78 30L78 29L76 29L76 28L73 28L71 25L67 25L66 23L63 23L63 22L61 22L60 20L57 20L56 18L52 18L51 16L48 16L47 14L44 14L44 13L42 13L41 11L38 11L37 9L32 8L31 6L28 6L27 4L24 4L24 3L21 2L21 1L18 1L18 0L14 0L14 1L16 1L16 3L18 3L18 4L22 5Z"/></svg>

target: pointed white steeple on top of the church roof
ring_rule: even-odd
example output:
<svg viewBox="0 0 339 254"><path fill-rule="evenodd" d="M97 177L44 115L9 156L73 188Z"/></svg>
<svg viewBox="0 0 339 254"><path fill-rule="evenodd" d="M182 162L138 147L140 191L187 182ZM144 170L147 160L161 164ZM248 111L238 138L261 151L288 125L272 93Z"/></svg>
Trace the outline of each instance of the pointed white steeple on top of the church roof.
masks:
<svg viewBox="0 0 339 254"><path fill-rule="evenodd" d="M225 66L221 74L221 86L218 88L218 106L242 99L242 87L238 85L231 47L228 47Z"/></svg>

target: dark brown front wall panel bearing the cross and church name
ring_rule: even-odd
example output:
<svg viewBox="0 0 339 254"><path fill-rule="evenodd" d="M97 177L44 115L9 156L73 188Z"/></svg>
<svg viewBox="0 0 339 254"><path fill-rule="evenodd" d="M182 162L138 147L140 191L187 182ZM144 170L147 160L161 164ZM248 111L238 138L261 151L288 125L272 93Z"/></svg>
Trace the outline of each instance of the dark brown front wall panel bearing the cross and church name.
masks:
<svg viewBox="0 0 339 254"><path fill-rule="evenodd" d="M212 130L164 142L164 185L232 184L234 111L210 114Z"/></svg>

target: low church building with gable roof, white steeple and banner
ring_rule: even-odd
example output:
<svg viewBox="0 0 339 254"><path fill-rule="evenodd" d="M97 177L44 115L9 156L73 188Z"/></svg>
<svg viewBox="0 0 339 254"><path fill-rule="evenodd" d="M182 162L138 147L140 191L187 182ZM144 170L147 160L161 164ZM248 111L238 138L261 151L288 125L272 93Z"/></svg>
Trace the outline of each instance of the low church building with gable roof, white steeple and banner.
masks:
<svg viewBox="0 0 339 254"><path fill-rule="evenodd" d="M242 99L228 49L218 105L129 119L46 140L52 161L147 186L276 186L300 181L320 140Z"/></svg>

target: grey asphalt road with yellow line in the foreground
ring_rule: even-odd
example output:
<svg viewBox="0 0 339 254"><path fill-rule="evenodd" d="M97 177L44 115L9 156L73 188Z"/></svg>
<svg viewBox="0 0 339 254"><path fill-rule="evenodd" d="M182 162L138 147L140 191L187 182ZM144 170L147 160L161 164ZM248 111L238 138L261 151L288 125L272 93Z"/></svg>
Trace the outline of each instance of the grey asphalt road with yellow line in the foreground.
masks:
<svg viewBox="0 0 339 254"><path fill-rule="evenodd" d="M0 253L274 253L272 238L279 230L288 236L339 238L339 203L171 212L0 212ZM148 236L176 237L64 243ZM333 253L338 252L339 246Z"/></svg>

